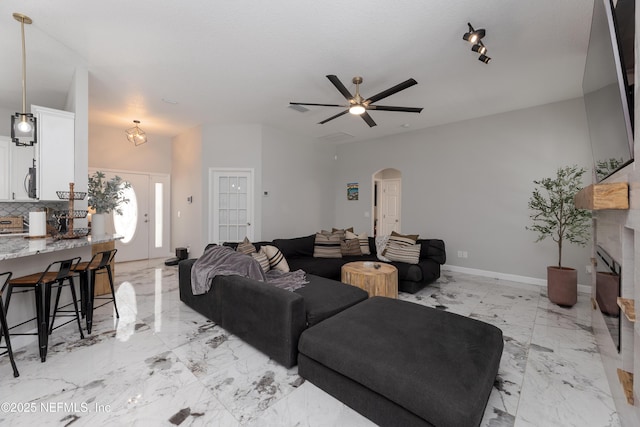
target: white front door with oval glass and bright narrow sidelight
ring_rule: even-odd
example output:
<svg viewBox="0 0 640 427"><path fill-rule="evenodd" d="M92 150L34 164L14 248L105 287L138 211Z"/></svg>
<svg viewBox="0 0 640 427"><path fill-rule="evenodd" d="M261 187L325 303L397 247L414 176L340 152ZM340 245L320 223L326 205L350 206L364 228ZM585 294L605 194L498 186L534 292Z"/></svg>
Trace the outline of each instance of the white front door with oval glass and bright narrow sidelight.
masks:
<svg viewBox="0 0 640 427"><path fill-rule="evenodd" d="M113 212L107 232L124 236L116 241L116 261L170 256L169 176L103 170L107 179L119 176L131 188L124 189L128 203L120 205L122 215Z"/></svg>

